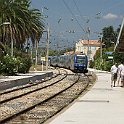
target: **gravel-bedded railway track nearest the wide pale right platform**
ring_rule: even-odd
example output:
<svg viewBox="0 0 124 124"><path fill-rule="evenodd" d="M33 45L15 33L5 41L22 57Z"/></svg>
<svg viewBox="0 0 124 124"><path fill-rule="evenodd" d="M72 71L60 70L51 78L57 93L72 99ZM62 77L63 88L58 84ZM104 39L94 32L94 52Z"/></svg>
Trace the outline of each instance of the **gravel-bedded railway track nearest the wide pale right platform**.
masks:
<svg viewBox="0 0 124 124"><path fill-rule="evenodd" d="M86 76L61 76L66 78L21 98L2 103L0 123L43 123L77 98L88 86Z"/></svg>

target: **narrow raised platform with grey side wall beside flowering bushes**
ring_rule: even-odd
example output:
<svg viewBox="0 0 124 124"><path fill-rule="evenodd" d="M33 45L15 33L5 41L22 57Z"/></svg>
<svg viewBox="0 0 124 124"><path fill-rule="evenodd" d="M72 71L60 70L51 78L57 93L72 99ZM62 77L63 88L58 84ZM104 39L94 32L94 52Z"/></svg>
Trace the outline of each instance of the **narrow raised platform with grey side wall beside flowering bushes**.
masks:
<svg viewBox="0 0 124 124"><path fill-rule="evenodd" d="M17 76L0 76L0 91L42 80L52 75L52 71L32 71L26 74L18 74Z"/></svg>

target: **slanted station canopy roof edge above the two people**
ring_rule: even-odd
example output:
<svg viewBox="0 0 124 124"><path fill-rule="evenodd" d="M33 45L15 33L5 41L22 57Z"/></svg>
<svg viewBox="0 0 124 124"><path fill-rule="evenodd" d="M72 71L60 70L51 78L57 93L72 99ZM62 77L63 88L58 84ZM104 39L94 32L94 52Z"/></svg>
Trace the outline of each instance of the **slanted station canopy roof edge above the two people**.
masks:
<svg viewBox="0 0 124 124"><path fill-rule="evenodd" d="M124 19L121 24L120 32L115 45L115 50L118 52L124 52Z"/></svg>

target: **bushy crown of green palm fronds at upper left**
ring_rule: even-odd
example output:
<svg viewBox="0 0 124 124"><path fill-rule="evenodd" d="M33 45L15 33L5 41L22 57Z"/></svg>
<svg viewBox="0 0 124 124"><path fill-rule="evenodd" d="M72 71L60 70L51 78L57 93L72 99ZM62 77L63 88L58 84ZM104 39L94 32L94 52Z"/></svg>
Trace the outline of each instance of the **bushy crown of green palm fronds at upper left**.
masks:
<svg viewBox="0 0 124 124"><path fill-rule="evenodd" d="M0 0L0 23L10 22L11 24L2 28L1 42L10 45L10 28L17 48L22 48L29 38L33 44L35 40L39 41L44 29L43 18L39 10L29 9L29 7L30 0Z"/></svg>

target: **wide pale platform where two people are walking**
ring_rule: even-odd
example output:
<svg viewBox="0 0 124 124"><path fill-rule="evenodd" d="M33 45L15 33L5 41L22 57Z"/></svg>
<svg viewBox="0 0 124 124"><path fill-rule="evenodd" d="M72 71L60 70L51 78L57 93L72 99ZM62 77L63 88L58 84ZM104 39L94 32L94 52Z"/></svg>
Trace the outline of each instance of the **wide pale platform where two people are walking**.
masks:
<svg viewBox="0 0 124 124"><path fill-rule="evenodd" d="M94 86L45 124L124 124L124 88L111 88L111 74L92 70Z"/></svg>

